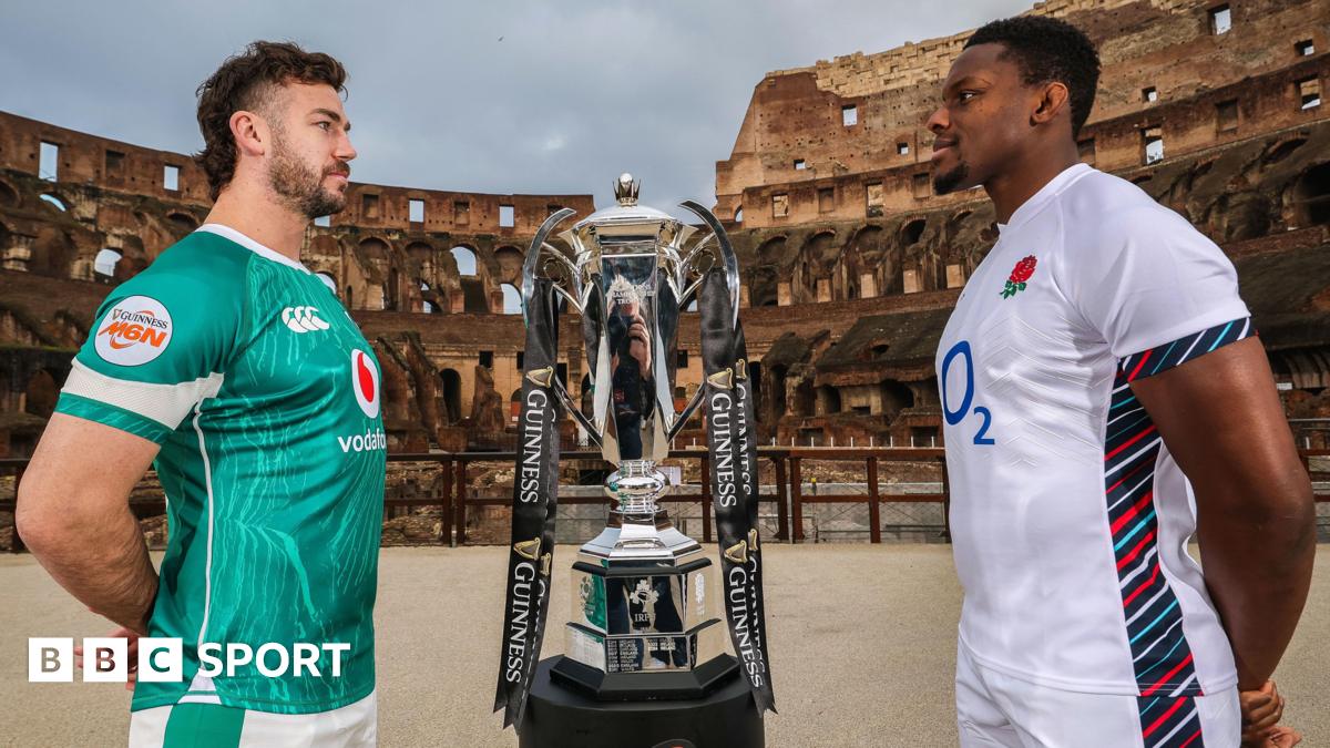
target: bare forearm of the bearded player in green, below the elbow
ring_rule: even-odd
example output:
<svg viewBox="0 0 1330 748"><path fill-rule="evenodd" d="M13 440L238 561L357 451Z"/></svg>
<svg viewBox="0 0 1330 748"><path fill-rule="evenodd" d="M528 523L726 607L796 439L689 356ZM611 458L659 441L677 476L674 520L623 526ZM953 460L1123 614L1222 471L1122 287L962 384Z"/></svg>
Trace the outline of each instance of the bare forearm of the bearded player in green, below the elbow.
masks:
<svg viewBox="0 0 1330 748"><path fill-rule="evenodd" d="M125 506L110 516L60 519L25 536L32 555L93 612L145 634L157 571L133 512Z"/></svg>

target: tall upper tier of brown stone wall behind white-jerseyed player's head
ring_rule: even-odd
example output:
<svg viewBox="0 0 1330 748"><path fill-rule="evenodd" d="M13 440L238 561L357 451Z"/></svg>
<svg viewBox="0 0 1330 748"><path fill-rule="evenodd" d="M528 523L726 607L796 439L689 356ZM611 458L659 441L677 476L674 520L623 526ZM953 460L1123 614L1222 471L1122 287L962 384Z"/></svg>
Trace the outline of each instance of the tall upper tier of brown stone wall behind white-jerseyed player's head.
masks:
<svg viewBox="0 0 1330 748"><path fill-rule="evenodd" d="M1303 97L1327 80L1330 0L1234 3L1224 33L1217 8L1069 0L1029 11L1064 17L1099 45L1103 76L1081 140L1100 168L1142 164L1156 128L1173 157L1325 117ZM926 122L971 33L769 73L730 158L717 162L717 213L766 228L964 201L931 194Z"/></svg>

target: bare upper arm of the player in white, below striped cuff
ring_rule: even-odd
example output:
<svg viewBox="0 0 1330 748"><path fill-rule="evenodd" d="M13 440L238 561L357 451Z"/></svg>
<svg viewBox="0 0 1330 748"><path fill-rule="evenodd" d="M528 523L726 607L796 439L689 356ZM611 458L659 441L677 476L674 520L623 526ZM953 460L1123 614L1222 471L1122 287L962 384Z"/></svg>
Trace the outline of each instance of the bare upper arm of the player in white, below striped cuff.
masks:
<svg viewBox="0 0 1330 748"><path fill-rule="evenodd" d="M1132 365L1128 359L1124 370ZM1148 367L1149 359L1138 366ZM1132 381L1197 495L1256 498L1299 468L1265 350L1245 338ZM1265 486L1261 486L1265 483ZM1208 490L1208 488L1226 490Z"/></svg>

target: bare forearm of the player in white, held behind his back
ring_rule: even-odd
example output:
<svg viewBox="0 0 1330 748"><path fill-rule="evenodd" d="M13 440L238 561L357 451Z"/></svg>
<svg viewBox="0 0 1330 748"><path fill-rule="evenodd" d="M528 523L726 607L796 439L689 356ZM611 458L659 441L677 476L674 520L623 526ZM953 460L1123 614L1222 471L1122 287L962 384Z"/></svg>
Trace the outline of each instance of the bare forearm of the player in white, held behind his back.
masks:
<svg viewBox="0 0 1330 748"><path fill-rule="evenodd" d="M1233 646L1241 689L1260 688L1279 664L1311 583L1315 506L1310 486L1305 499L1298 482L1289 490L1298 500L1265 504L1289 507L1282 514L1216 516L1202 510L1198 518L1205 580Z"/></svg>

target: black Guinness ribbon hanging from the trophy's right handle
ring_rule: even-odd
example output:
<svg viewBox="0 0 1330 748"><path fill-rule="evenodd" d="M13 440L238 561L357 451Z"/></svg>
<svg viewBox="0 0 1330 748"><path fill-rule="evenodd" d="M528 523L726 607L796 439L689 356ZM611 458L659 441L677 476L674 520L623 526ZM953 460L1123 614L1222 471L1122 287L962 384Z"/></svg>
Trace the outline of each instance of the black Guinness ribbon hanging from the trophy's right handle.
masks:
<svg viewBox="0 0 1330 748"><path fill-rule="evenodd" d="M766 655L762 552L757 530L757 442L751 435L753 382L747 377L743 330L732 327L725 272L708 272L700 289L702 373L706 377L706 446L712 498L721 543L725 620L759 713L775 711Z"/></svg>

